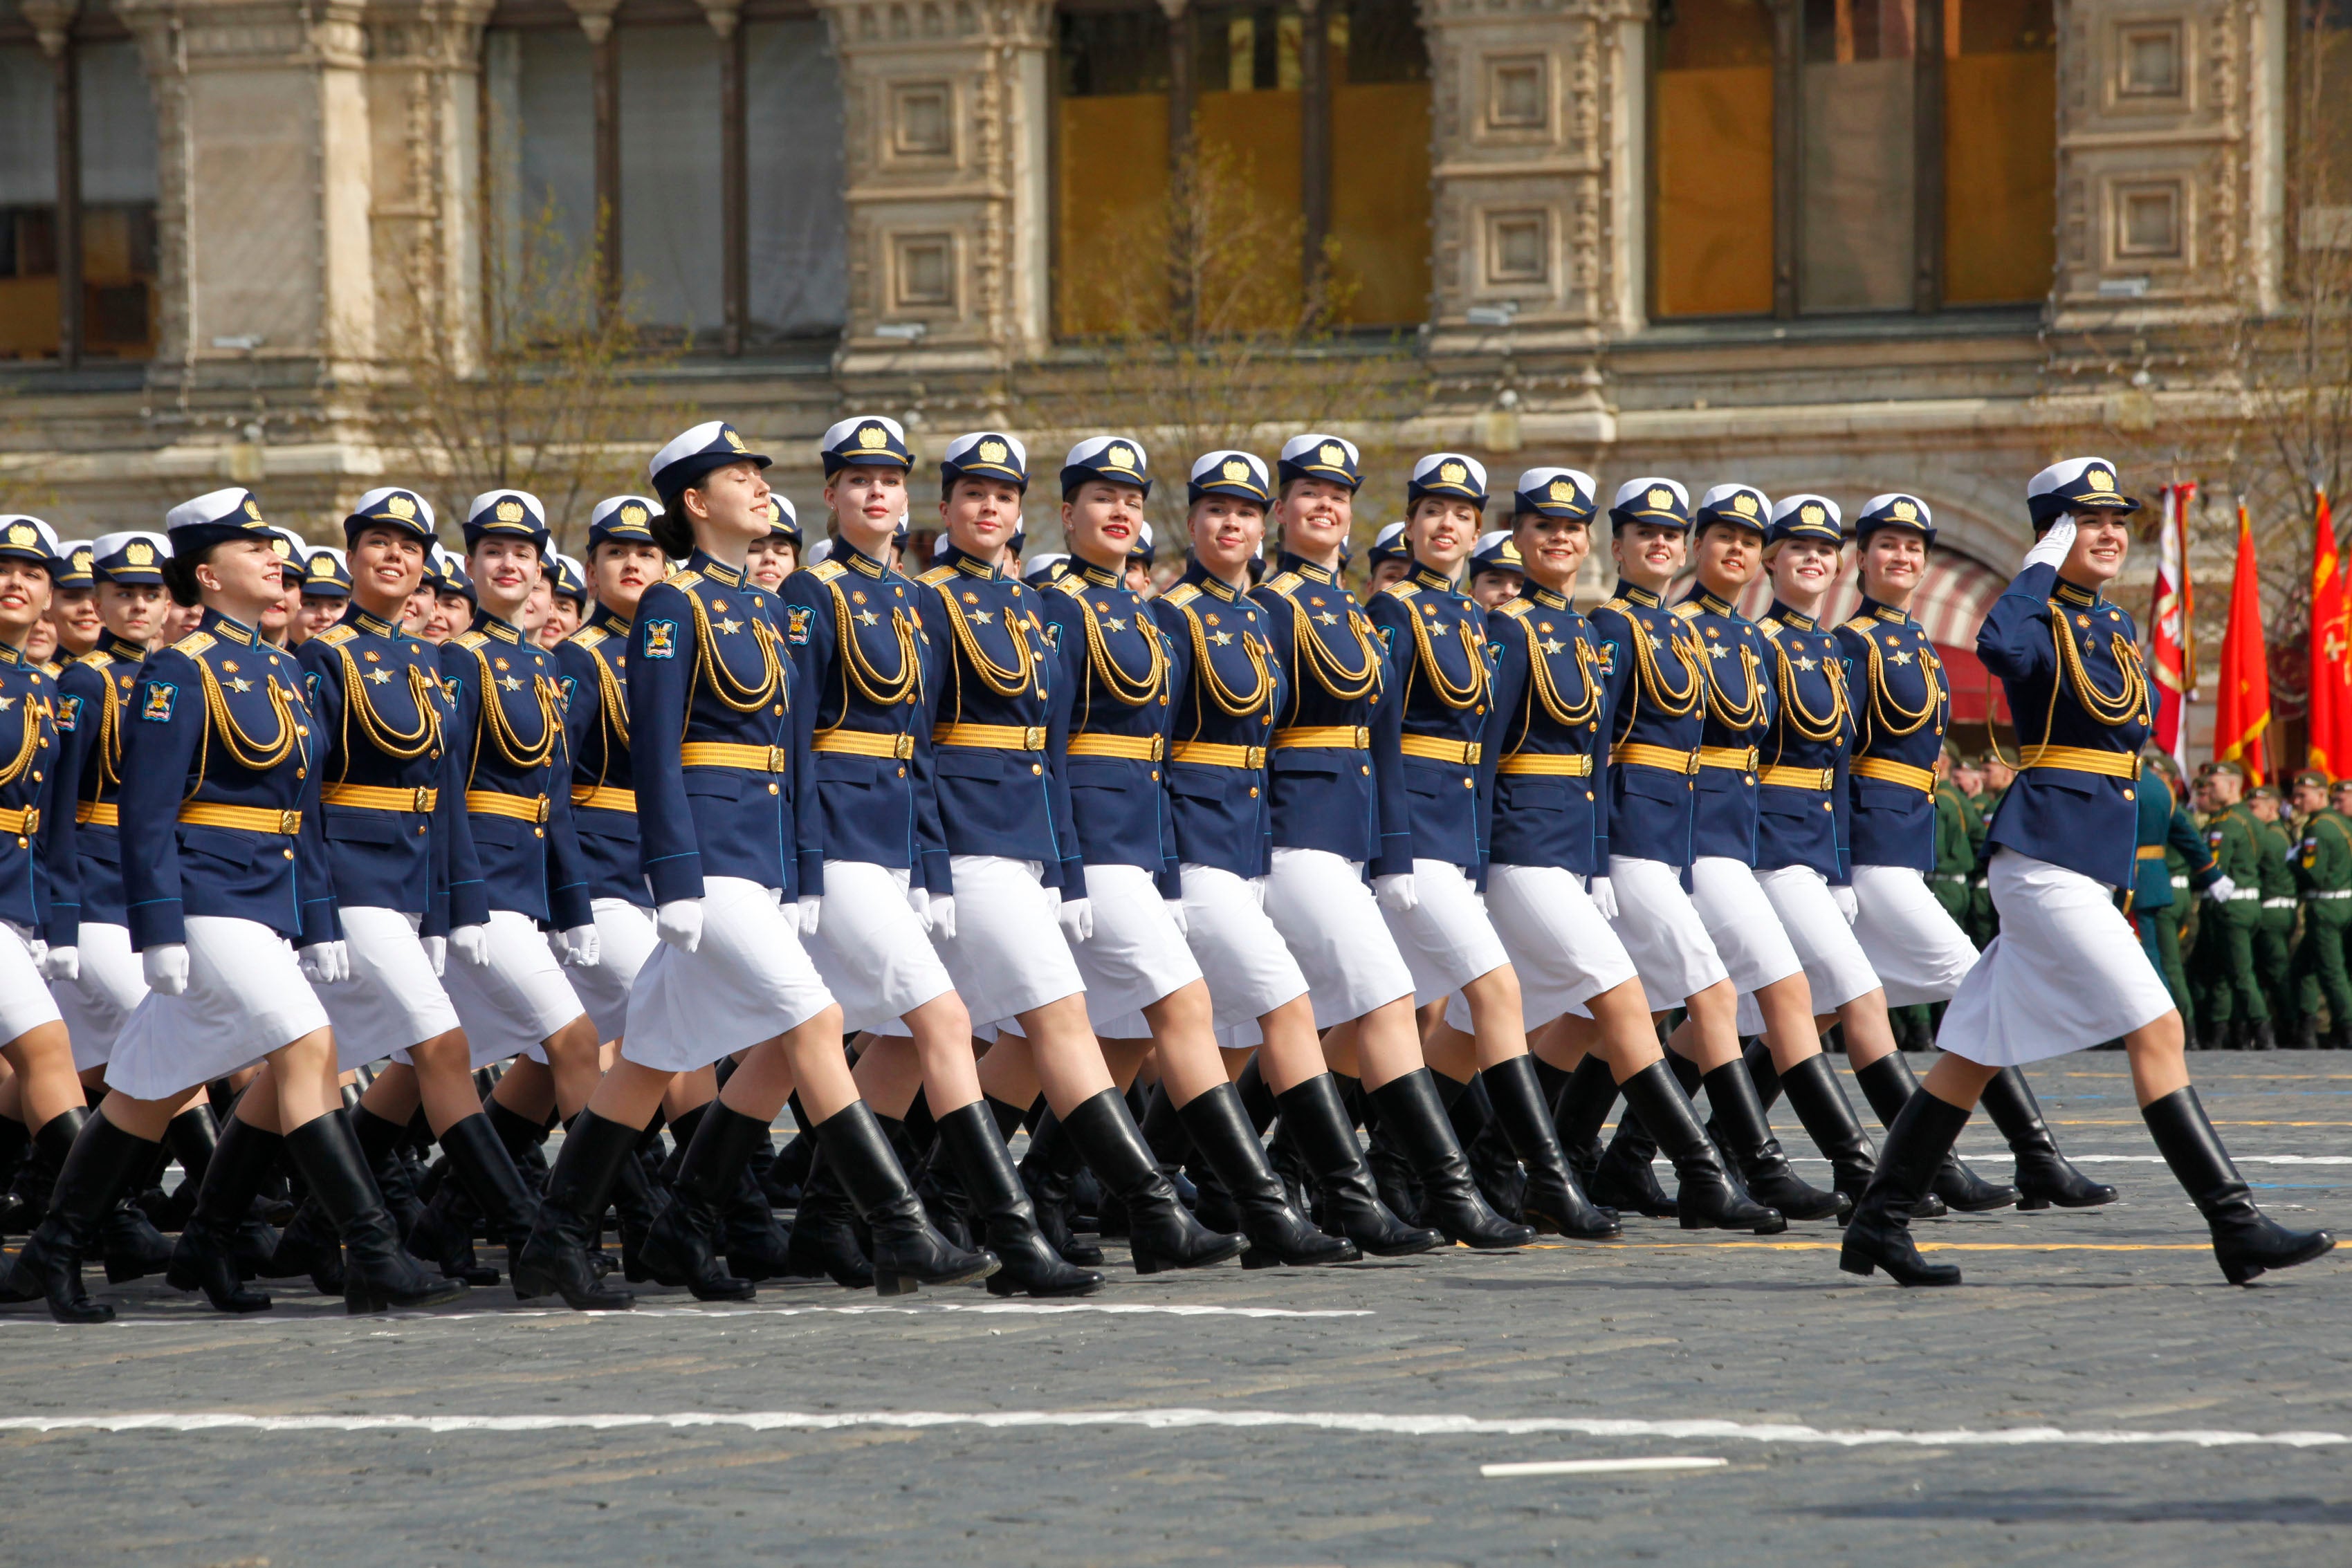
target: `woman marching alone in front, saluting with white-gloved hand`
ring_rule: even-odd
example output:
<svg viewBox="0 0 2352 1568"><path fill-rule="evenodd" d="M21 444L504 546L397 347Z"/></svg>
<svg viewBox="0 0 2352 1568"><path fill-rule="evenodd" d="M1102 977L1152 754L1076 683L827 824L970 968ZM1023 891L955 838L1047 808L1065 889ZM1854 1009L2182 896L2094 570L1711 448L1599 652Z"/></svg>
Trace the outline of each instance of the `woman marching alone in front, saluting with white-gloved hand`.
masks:
<svg viewBox="0 0 2352 1568"><path fill-rule="evenodd" d="M2336 1239L2286 1229L2256 1208L2190 1088L2164 976L2114 905L2138 858L2133 795L2145 783L2150 682L2138 628L2105 588L2124 569L2140 503L2119 491L2105 458L2067 458L2032 477L2025 505L2034 548L1976 635L1978 658L2018 715L2018 778L1987 832L2002 936L1943 1016L1943 1058L1886 1133L1839 1267L1957 1286L1955 1265L1919 1258L1910 1211L1976 1098L2009 1065L2122 1037L2157 1152L2206 1218L2223 1276L2249 1284L2319 1258Z"/></svg>

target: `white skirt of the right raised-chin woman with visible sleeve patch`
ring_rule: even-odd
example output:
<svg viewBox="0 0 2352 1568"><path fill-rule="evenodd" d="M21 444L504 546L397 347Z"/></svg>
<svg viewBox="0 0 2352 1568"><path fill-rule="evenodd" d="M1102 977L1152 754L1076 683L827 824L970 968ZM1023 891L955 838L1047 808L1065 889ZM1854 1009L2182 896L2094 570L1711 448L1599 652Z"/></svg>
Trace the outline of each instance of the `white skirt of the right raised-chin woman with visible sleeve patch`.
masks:
<svg viewBox="0 0 2352 1568"><path fill-rule="evenodd" d="M621 1056L694 1072L833 1006L781 898L743 877L703 877L703 940L694 952L654 947L628 992Z"/></svg>

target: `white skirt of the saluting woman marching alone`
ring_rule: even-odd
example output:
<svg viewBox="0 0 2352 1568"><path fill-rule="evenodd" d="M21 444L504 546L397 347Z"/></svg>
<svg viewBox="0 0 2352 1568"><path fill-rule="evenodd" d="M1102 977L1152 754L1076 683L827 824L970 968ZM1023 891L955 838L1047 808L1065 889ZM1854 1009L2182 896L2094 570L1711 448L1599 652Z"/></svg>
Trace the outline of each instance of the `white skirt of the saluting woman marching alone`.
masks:
<svg viewBox="0 0 2352 1568"><path fill-rule="evenodd" d="M2114 889L2013 849L1992 856L2002 933L1943 1013L1936 1044L1980 1067L2089 1051L2173 1011Z"/></svg>

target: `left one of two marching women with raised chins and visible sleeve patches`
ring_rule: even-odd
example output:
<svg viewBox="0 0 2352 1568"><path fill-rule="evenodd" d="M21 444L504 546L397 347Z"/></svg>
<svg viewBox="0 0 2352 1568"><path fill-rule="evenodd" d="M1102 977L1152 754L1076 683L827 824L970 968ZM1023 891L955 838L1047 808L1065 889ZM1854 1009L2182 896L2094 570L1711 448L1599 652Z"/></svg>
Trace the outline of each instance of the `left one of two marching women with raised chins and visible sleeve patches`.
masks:
<svg viewBox="0 0 2352 1568"><path fill-rule="evenodd" d="M343 1237L353 1312L456 1300L463 1284L426 1279L400 1248L343 1117L334 1030L303 978L346 959L318 823L320 736L294 656L256 632L285 597L270 529L242 489L176 505L165 527L172 597L202 618L148 656L122 743L122 889L151 992L59 1178L56 1229L26 1248L12 1288L38 1286L64 1321L111 1316L80 1293L89 1220L148 1168L202 1084L263 1060L205 1171L172 1284L228 1312L268 1307L240 1284L230 1239L282 1147Z"/></svg>

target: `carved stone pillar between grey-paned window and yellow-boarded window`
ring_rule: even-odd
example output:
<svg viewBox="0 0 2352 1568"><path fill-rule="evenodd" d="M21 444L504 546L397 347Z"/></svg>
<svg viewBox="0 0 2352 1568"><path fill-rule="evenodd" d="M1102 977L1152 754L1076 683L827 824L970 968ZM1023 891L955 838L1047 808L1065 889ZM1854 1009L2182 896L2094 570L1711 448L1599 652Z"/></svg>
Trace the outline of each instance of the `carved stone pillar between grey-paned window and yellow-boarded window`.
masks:
<svg viewBox="0 0 2352 1568"><path fill-rule="evenodd" d="M844 390L990 376L1049 322L1042 0L826 0L849 169Z"/></svg>

